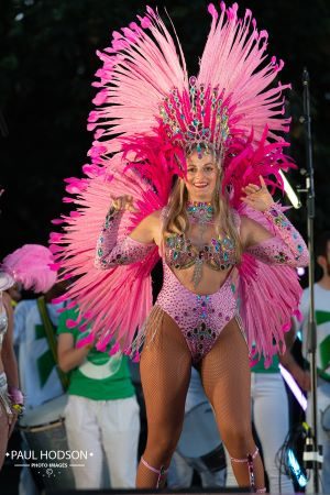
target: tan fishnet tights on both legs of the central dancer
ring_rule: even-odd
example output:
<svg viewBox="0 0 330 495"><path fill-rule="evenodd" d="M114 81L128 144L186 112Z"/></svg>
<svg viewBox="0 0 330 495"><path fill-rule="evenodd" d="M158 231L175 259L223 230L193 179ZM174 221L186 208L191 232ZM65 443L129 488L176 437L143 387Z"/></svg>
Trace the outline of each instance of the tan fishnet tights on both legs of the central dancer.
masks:
<svg viewBox="0 0 330 495"><path fill-rule="evenodd" d="M143 458L160 470L169 466L180 436L191 354L180 330L167 314L163 312L156 324L158 329L155 332L151 317L140 370L148 430ZM231 457L246 458L248 453L255 451L250 416L250 366L246 343L234 320L227 324L201 361L200 373L223 443ZM249 486L248 464L232 463L232 466L238 484ZM254 460L254 476L256 488L263 488L264 471L260 455ZM140 463L136 487L153 488L157 481L158 475ZM163 477L161 486L164 483Z"/></svg>

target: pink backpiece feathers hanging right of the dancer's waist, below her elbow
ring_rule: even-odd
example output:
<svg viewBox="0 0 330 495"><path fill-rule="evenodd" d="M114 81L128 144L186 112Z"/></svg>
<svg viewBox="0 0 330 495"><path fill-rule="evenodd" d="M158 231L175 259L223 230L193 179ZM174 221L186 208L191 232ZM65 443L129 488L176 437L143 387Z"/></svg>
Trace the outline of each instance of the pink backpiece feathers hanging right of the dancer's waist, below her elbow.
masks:
<svg viewBox="0 0 330 495"><path fill-rule="evenodd" d="M270 230L260 211L244 205L240 213ZM302 288L295 268L268 265L248 253L243 254L239 274L240 315L249 349L254 356L263 355L267 367L274 354L285 351L284 333L292 328L292 317L299 316Z"/></svg>

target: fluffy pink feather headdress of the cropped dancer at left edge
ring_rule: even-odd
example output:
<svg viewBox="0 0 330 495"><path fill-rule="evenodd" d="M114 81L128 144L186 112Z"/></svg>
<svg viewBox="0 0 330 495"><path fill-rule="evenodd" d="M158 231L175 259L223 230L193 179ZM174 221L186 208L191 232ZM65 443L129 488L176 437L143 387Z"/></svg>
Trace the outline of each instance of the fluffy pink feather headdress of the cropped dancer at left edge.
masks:
<svg viewBox="0 0 330 495"><path fill-rule="evenodd" d="M54 257L48 248L24 244L3 258L0 272L21 283L25 289L46 293L57 278L53 264Z"/></svg>

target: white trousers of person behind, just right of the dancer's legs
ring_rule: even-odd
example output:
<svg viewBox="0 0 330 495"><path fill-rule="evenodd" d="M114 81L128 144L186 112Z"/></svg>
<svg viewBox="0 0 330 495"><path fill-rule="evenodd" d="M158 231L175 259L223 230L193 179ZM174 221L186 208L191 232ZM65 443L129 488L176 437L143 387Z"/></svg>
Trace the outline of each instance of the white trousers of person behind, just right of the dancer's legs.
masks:
<svg viewBox="0 0 330 495"><path fill-rule="evenodd" d="M270 492L294 493L292 480L279 474L275 462L289 429L288 399L280 373L251 373L251 399L252 418L263 448ZM227 486L237 486L230 461L227 464Z"/></svg>

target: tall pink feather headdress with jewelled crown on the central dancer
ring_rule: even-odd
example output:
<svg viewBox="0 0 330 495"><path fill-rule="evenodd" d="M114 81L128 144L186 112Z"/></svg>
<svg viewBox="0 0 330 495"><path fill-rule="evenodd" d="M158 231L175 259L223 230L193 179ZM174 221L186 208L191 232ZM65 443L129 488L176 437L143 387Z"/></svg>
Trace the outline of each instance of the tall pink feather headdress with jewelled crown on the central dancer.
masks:
<svg viewBox="0 0 330 495"><path fill-rule="evenodd" d="M113 33L112 46L98 52L99 109L88 119L88 129L98 128L92 158L100 163L120 151L120 135L157 132L160 118L183 147L202 142L219 150L228 138L244 139L252 130L257 143L266 125L271 140L283 141L277 132L288 131L290 120L282 94L289 85L271 86L284 63L275 57L265 63L268 35L257 31L250 10L240 19L237 3L220 7L220 15L213 4L208 8L211 29L199 74L190 79L179 43L150 7L139 18L141 26L133 22Z"/></svg>

